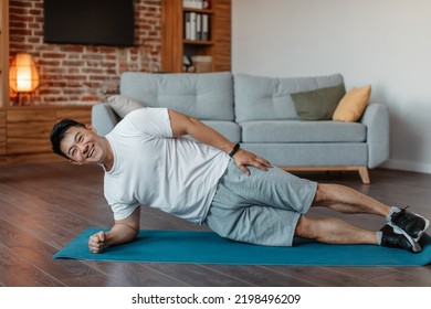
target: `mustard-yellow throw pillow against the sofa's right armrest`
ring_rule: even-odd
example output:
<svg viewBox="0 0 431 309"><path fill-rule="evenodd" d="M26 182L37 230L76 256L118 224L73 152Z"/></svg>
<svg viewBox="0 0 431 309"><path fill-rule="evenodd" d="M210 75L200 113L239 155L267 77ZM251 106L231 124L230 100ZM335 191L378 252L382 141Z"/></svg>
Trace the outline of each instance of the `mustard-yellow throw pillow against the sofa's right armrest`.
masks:
<svg viewBox="0 0 431 309"><path fill-rule="evenodd" d="M334 111L333 120L355 122L362 116L371 95L371 85L351 88L339 102Z"/></svg>

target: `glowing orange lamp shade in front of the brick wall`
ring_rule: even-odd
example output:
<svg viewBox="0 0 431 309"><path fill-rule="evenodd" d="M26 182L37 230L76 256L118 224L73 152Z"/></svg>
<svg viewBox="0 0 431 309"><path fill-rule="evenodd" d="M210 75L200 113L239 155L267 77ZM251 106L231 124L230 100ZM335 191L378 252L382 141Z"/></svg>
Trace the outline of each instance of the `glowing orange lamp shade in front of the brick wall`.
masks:
<svg viewBox="0 0 431 309"><path fill-rule="evenodd" d="M17 93L33 92L39 85L39 74L30 54L17 54L9 68L9 85Z"/></svg>

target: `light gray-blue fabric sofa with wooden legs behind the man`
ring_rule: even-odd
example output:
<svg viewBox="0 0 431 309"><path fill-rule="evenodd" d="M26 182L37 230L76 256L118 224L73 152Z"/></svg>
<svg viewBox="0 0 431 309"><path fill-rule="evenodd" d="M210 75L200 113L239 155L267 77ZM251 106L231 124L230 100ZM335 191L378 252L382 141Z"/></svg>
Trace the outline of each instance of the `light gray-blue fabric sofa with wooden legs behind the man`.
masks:
<svg viewBox="0 0 431 309"><path fill-rule="evenodd" d="M388 106L370 103L356 122L306 121L298 118L291 97L340 84L339 74L274 78L127 72L120 76L119 93L143 106L168 107L201 119L285 170L355 170L369 183L368 169L389 157ZM116 104L93 106L92 124L99 135L108 134L120 120ZM120 111L136 107L125 106Z"/></svg>

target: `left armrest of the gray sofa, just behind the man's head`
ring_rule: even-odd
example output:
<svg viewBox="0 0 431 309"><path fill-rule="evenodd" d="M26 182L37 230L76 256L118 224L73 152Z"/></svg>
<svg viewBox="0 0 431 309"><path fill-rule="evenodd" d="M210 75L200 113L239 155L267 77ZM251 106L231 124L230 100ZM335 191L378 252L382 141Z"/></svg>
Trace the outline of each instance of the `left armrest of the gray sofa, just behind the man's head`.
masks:
<svg viewBox="0 0 431 309"><path fill-rule="evenodd" d="M106 103L96 104L92 107L92 126L99 136L105 136L118 124L119 117Z"/></svg>

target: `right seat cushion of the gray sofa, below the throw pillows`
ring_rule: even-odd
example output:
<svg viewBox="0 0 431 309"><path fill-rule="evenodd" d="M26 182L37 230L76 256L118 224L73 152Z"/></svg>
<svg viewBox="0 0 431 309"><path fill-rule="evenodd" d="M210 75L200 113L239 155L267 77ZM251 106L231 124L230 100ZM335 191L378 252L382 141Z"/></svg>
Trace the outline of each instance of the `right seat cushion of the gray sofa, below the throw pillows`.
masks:
<svg viewBox="0 0 431 309"><path fill-rule="evenodd" d="M367 128L359 122L330 120L259 120L240 124L243 142L364 142Z"/></svg>

